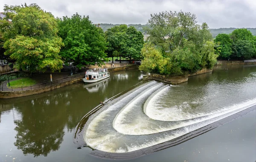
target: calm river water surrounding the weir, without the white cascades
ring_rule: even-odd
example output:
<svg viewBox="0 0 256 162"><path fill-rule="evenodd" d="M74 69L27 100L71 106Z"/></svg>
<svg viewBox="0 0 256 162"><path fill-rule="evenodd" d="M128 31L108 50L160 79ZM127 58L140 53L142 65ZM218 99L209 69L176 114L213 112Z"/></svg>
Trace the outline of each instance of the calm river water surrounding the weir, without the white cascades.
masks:
<svg viewBox="0 0 256 162"><path fill-rule="evenodd" d="M77 149L73 143L75 127L100 101L139 83L141 75L138 70L114 72L107 81L91 87L81 83L39 95L1 99L0 162L111 161L89 155L90 148ZM189 114L196 110L203 114L220 107L235 107L255 98L256 66L242 65L215 67L212 74L191 77L187 83L166 91L160 99L173 110L182 109ZM158 107L159 111L165 110L164 106ZM205 112L204 107L210 107L209 111ZM161 114L158 111L150 112L156 118L170 119L170 116L158 116ZM182 115L187 118L186 113ZM133 159L137 162L255 160L255 110L180 145Z"/></svg>

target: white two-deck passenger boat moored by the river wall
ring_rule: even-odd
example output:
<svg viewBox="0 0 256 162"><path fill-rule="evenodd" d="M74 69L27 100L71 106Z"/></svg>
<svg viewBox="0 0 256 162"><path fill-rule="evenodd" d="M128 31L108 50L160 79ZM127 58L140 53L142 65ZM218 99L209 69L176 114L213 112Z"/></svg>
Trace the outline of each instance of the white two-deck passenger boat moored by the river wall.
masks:
<svg viewBox="0 0 256 162"><path fill-rule="evenodd" d="M100 69L89 69L85 72L85 78L83 81L85 83L94 83L97 81L102 81L103 79L109 78L108 68Z"/></svg>

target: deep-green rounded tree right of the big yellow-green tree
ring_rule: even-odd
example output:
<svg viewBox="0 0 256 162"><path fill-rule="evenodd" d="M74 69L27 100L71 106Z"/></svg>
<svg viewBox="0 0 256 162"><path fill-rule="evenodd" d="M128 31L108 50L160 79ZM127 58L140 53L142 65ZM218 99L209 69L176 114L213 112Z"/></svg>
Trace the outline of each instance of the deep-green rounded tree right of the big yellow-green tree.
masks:
<svg viewBox="0 0 256 162"><path fill-rule="evenodd" d="M60 55L67 62L81 69L85 65L97 62L100 66L101 59L106 60L107 49L104 32L92 24L89 17L81 17L78 13L70 17L59 19L58 35L63 39L65 47L61 49Z"/></svg>

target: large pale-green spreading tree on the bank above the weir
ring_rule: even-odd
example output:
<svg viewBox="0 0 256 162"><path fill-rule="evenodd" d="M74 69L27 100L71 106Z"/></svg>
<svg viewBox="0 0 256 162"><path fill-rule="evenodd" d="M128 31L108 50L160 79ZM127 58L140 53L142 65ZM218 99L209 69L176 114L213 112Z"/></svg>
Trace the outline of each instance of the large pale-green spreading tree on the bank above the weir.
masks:
<svg viewBox="0 0 256 162"><path fill-rule="evenodd" d="M166 70L152 69L160 74L181 73L183 70L197 71L211 68L217 55L212 35L206 23L198 25L195 14L189 12L161 12L151 14L148 41L159 48L164 58L171 63ZM145 57L145 53L143 54ZM145 64L142 63L142 67ZM166 64L167 66L167 64Z"/></svg>

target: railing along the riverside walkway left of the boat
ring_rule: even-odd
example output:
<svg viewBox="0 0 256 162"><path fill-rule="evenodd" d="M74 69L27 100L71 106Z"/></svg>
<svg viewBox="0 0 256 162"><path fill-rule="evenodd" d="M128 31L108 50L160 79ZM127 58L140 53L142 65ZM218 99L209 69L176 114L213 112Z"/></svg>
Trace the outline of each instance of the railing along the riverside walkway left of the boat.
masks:
<svg viewBox="0 0 256 162"><path fill-rule="evenodd" d="M6 86L0 86L0 91L25 91L25 90L39 90L39 89L46 88L46 87L51 88L51 87L56 86L58 84L65 83L67 81L73 81L73 80L82 78L84 76L85 76L85 73L82 72L82 73L79 73L79 74L76 74L76 75L56 79L54 81L48 81L48 82L45 82L45 83L35 84L35 85L30 85L30 86L10 86L10 87L7 87L7 85Z"/></svg>

